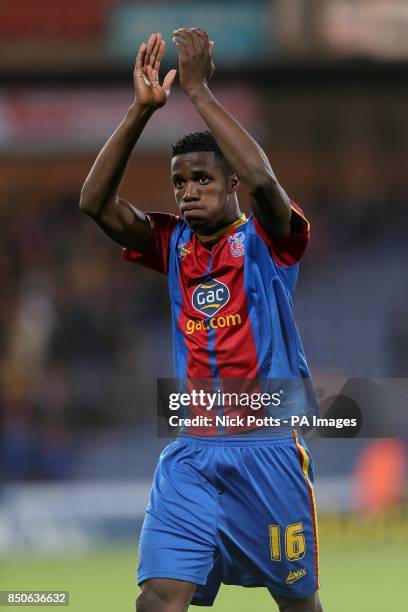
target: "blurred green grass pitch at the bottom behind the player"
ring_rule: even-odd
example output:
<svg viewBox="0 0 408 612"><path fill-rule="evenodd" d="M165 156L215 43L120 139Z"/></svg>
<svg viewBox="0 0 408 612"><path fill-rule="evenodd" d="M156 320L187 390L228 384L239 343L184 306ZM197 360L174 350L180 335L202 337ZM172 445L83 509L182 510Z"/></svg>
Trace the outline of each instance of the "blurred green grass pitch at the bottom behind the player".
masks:
<svg viewBox="0 0 408 612"><path fill-rule="evenodd" d="M103 549L80 557L2 561L1 589L69 590L71 612L131 612L137 593L135 550L136 547ZM402 606L406 581L403 543L367 541L359 542L358 546L322 543L321 565L320 594L325 609L330 612L382 612ZM265 589L223 586L212 609L214 612L270 612L273 605ZM27 610L20 606L13 609Z"/></svg>

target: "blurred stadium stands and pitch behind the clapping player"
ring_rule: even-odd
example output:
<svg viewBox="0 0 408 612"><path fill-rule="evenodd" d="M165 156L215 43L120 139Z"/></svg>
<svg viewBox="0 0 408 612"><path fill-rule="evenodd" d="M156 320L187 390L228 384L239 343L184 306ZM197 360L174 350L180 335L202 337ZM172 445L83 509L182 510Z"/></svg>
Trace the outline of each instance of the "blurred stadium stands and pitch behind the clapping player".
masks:
<svg viewBox="0 0 408 612"><path fill-rule="evenodd" d="M171 31L195 25L214 89L311 220L296 317L314 375L407 371L404 0L0 0L0 588L69 589L78 611L133 609L171 376L165 280L121 261L79 192L141 40L161 31L170 67ZM201 126L175 87L121 194L173 211L169 145ZM328 611L405 601L406 436L310 440ZM271 607L224 587L215 609Z"/></svg>

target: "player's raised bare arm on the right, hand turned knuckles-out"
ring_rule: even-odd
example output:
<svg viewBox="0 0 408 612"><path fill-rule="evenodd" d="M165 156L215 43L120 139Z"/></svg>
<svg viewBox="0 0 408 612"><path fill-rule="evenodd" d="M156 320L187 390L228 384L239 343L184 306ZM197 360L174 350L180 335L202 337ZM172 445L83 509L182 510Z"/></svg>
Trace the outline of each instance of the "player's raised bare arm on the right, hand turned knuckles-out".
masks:
<svg viewBox="0 0 408 612"><path fill-rule="evenodd" d="M205 78L211 48L200 28L173 34L179 50L179 76L184 91L214 135L226 160L247 186L255 216L271 233L290 232L291 205L264 151L210 91Z"/></svg>

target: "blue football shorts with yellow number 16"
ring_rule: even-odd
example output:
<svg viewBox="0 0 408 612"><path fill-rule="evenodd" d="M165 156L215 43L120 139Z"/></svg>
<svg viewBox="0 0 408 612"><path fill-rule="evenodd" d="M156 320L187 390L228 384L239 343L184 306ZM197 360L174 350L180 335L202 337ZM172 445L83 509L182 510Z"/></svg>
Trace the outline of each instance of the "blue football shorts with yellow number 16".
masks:
<svg viewBox="0 0 408 612"><path fill-rule="evenodd" d="M160 456L140 537L138 583L221 583L301 598L318 589L313 466L303 441L179 438Z"/></svg>

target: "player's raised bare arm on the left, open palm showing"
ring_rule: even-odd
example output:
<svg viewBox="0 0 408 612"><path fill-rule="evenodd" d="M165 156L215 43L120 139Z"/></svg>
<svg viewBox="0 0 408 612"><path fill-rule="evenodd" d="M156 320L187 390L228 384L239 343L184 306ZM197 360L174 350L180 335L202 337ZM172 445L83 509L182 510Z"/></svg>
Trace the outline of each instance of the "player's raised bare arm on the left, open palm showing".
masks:
<svg viewBox="0 0 408 612"><path fill-rule="evenodd" d="M151 228L146 215L118 196L130 155L152 114L163 106L176 70L159 83L165 43L152 34L142 43L133 76L135 99L125 118L99 153L81 191L80 209L121 246L142 251Z"/></svg>

